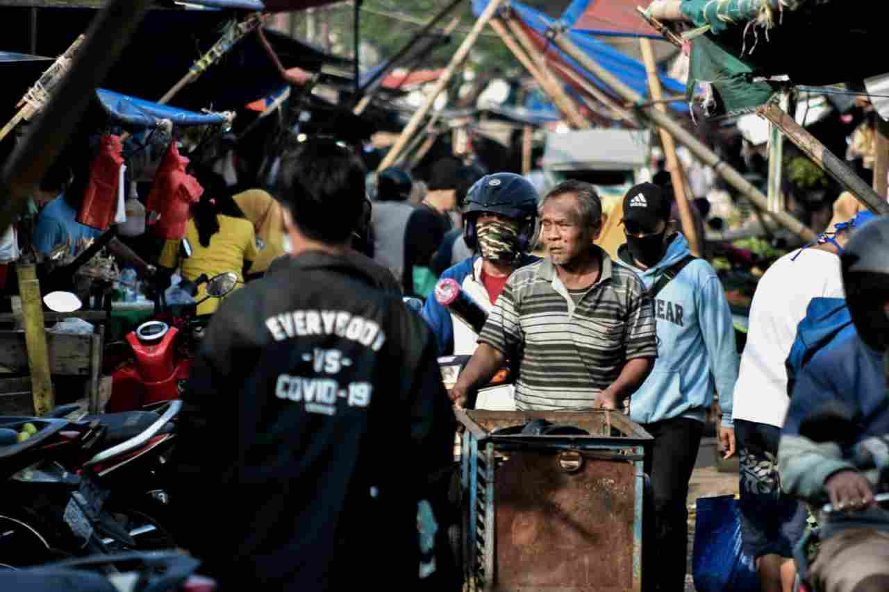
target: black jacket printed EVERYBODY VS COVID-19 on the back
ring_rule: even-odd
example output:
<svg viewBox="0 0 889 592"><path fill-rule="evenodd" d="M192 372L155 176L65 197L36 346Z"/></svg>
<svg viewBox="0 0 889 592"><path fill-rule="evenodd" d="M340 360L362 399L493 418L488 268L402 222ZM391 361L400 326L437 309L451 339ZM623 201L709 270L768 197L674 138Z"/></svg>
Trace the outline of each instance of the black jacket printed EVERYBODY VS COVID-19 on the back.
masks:
<svg viewBox="0 0 889 592"><path fill-rule="evenodd" d="M304 253L213 317L172 500L223 583L413 588L416 504L453 460L454 417L428 327L373 284L349 258Z"/></svg>

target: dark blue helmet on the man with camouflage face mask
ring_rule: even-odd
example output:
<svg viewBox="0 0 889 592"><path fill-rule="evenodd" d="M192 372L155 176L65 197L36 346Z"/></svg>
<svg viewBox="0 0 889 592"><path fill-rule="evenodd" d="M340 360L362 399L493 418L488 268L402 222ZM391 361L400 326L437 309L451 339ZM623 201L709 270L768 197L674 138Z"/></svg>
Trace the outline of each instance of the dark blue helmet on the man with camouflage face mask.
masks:
<svg viewBox="0 0 889 592"><path fill-rule="evenodd" d="M493 212L518 221L518 247L531 252L540 236L537 220L537 189L525 177L512 172L497 172L476 181L466 194L463 206L463 238L466 245L477 247L478 214Z"/></svg>

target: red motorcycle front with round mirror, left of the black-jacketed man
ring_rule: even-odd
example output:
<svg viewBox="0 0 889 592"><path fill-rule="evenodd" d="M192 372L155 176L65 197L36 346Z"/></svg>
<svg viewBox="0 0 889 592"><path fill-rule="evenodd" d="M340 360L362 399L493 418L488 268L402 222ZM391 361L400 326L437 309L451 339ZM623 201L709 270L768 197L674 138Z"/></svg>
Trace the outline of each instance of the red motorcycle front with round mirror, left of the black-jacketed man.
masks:
<svg viewBox="0 0 889 592"><path fill-rule="evenodd" d="M237 275L201 276L195 284L183 281L186 285L180 286L194 296L204 283L206 297L181 308L166 306L163 292L158 291L156 318L127 333L124 342L108 345L105 366L112 386L107 412L151 409L180 397L197 344L204 336L206 322L196 317L196 308L205 300L224 298L232 292Z"/></svg>

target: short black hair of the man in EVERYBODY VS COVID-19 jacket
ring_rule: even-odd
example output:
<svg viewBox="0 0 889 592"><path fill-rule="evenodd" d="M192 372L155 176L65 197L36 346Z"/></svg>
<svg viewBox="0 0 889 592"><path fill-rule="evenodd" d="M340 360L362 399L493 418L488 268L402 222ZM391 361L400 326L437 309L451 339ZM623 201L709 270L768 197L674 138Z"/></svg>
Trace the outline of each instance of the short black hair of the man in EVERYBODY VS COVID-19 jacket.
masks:
<svg viewBox="0 0 889 592"><path fill-rule="evenodd" d="M348 241L364 212L361 160L335 140L309 139L281 161L277 197L308 238Z"/></svg>

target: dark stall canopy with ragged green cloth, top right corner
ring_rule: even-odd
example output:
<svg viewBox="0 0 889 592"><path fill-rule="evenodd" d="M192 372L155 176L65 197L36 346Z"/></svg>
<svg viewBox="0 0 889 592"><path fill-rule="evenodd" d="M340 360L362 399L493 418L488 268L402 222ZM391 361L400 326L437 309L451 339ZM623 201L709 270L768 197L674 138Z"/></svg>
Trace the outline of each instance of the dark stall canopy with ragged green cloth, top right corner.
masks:
<svg viewBox="0 0 889 592"><path fill-rule="evenodd" d="M743 113L780 84L858 84L885 72L883 3L684 0L692 41L688 84L712 83L711 115ZM788 76L789 82L769 80Z"/></svg>

